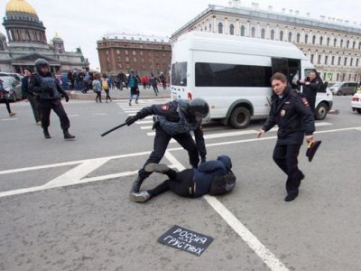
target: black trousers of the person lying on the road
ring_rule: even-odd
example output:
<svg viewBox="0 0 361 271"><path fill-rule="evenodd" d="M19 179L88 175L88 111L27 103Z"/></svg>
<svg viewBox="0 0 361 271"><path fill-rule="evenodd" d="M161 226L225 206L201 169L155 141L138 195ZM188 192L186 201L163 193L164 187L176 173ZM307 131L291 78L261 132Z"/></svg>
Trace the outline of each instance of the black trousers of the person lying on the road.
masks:
<svg viewBox="0 0 361 271"><path fill-rule="evenodd" d="M180 197L189 197L192 198L190 194L190 187L194 185L193 177L194 177L194 170L187 169L177 173L170 169L168 172L164 173L168 175L170 178L162 182L160 185L155 187L153 190L148 191L152 197L155 197L162 192L166 192L171 190L171 192L176 193Z"/></svg>

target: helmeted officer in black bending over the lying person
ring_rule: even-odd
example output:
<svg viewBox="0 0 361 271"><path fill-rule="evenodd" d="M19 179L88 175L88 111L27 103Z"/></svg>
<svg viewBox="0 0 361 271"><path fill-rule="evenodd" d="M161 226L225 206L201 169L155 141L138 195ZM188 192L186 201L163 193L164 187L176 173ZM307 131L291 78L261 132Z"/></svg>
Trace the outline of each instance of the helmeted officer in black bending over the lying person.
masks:
<svg viewBox="0 0 361 271"><path fill-rule="evenodd" d="M144 179L152 173L146 172L147 164L158 164L167 149L171 138L174 138L190 155L190 164L197 168L199 155L201 162L206 162L206 145L202 131L202 118L209 113L208 103L202 98L192 100L174 100L163 105L144 107L134 117L128 117L125 123L130 126L138 119L154 115L155 138L153 152L139 170L138 177L133 183L130 200L134 201L134 194L139 192ZM194 142L190 131L194 131Z"/></svg>

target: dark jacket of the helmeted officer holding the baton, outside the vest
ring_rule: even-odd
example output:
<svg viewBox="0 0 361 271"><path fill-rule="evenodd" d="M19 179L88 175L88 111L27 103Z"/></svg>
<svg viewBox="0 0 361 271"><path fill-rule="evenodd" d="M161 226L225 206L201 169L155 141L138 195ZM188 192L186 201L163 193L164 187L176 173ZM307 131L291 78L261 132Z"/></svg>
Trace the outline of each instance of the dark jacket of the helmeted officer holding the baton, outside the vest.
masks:
<svg viewBox="0 0 361 271"><path fill-rule="evenodd" d="M179 101L173 100L163 105L153 105L151 107L144 107L136 114L135 117L137 119L142 119L144 117L151 115L162 116L165 117L167 121L172 122L174 124L178 124L180 122ZM193 122L192 120L188 120L188 121L190 123ZM206 157L207 150L204 142L201 123L197 124L196 128L194 129L194 135L196 138L196 145L200 157Z"/></svg>

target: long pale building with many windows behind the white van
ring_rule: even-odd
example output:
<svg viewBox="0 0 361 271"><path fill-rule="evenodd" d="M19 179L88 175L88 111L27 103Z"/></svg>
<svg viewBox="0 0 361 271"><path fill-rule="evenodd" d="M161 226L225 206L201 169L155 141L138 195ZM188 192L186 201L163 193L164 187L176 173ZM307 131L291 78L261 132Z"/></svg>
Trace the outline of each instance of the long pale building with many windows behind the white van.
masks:
<svg viewBox="0 0 361 271"><path fill-rule="evenodd" d="M171 35L202 31L292 42L309 57L320 76L328 81L361 81L361 24L310 14L297 10L282 12L260 9L255 3L244 7L239 0L229 6L208 5L201 14Z"/></svg>

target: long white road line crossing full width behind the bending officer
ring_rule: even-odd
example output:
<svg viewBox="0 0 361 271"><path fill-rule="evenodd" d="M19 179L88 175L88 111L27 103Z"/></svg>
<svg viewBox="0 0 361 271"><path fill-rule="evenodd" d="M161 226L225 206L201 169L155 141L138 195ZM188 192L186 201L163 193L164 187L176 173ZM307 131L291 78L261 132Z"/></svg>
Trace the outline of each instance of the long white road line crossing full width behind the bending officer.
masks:
<svg viewBox="0 0 361 271"><path fill-rule="evenodd" d="M357 131L361 130L361 126L340 128L340 129L333 129L333 130L324 130L324 131L316 132L316 134L335 133L335 132L343 132L343 131L351 131L351 130L357 130ZM277 138L277 136L266 136L266 137L262 137L262 138L242 139L242 140L235 140L235 141L212 143L212 144L208 144L207 147L218 146L218 145L234 145L234 144L249 143L249 142L255 142L255 141L271 140L271 139L275 139L275 138ZM183 150L183 148L182 147L174 147L174 148L168 149L168 151L171 151L171 152L172 151L180 151L180 150ZM152 151L133 153L133 154L120 154L120 155L114 155L114 156L84 159L84 160L79 160L79 161L70 161L70 162L58 163L58 164L45 164L45 165L38 165L38 166L32 166L32 167L17 168L17 169L0 171L0 175L9 174L9 173L23 173L23 172L29 172L29 171L34 171L34 170L42 170L42 169L47 169L47 168L67 166L67 165L73 165L73 164L82 164L82 163L86 163L88 161L97 160L97 159L113 160L113 159L120 159L120 158L135 157L135 156L151 154L151 152Z"/></svg>

